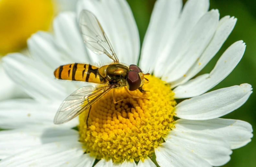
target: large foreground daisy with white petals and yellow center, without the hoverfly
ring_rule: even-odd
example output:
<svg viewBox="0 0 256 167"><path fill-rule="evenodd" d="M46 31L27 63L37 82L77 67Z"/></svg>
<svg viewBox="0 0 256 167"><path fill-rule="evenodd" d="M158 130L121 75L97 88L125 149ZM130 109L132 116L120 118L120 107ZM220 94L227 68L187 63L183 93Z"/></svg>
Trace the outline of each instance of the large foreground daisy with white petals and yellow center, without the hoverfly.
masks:
<svg viewBox="0 0 256 167"><path fill-rule="evenodd" d="M221 166L232 149L251 141L252 127L242 120L219 118L243 105L252 93L241 84L207 92L236 67L245 51L232 44L209 74L195 75L214 57L237 19L219 19L208 0L158 0L143 42L124 0L81 0L76 13L54 20L54 34L38 32L28 40L31 57L4 57L8 75L33 99L0 103L0 166ZM88 10L99 19L120 62L137 64L147 76L146 99L109 92L86 114L54 125L62 101L88 83L59 81L53 71L73 62L110 61L84 46L79 14ZM108 58L108 59L107 59ZM207 93L206 93L207 92ZM141 96L138 91L131 92ZM185 99L179 104L176 99ZM79 118L79 119L78 119ZM179 119L178 119L179 118ZM73 127L78 127L78 130ZM154 163L154 158L156 162ZM152 161L153 160L153 161Z"/></svg>

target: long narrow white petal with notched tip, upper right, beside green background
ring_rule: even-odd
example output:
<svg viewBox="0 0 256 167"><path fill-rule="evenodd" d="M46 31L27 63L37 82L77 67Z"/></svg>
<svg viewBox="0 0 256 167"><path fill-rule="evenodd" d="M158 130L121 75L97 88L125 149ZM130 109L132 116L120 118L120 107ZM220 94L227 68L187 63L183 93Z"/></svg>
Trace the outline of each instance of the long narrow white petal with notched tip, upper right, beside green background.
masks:
<svg viewBox="0 0 256 167"><path fill-rule="evenodd" d="M175 88L176 86L187 82L206 66L206 64L215 56L215 54L222 47L223 43L226 41L227 37L233 30L236 22L237 18L230 18L230 16L225 16L220 19L214 37L209 45L206 47L202 56L194 63L192 68L189 69L185 76L170 83L171 88Z"/></svg>

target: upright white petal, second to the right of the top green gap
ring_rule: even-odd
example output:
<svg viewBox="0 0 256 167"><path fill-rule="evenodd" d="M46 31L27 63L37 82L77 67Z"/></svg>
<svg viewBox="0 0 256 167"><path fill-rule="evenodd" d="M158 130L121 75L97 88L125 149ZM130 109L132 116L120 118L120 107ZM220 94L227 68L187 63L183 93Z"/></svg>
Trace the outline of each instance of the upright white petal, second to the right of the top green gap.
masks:
<svg viewBox="0 0 256 167"><path fill-rule="evenodd" d="M154 75L161 77L165 69L169 67L172 61L180 58L180 52L186 50L188 47L184 44L187 39L192 35L192 29L197 24L198 20L208 11L209 0L189 0L184 5L180 19L176 23L169 41L163 47Z"/></svg>

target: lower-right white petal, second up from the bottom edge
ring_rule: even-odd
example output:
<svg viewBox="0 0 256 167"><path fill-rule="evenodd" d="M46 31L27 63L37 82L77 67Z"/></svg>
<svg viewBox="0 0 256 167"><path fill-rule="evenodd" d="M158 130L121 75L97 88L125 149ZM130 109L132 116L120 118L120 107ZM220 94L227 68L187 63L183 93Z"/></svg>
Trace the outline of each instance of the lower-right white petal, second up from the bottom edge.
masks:
<svg viewBox="0 0 256 167"><path fill-rule="evenodd" d="M221 138L200 133L188 133L171 130L164 138L166 142L180 145L193 151L212 166L221 166L230 160L230 145Z"/></svg>

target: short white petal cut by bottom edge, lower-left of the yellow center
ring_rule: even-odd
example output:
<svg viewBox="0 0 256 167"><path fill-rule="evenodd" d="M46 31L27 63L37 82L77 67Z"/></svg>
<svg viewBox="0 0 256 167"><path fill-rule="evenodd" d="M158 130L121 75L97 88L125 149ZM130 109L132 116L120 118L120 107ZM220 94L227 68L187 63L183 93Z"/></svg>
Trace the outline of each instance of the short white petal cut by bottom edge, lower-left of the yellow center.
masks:
<svg viewBox="0 0 256 167"><path fill-rule="evenodd" d="M63 163L64 167L92 167L95 161L95 157L91 157L90 153L83 154L79 157L75 157L69 162Z"/></svg>

